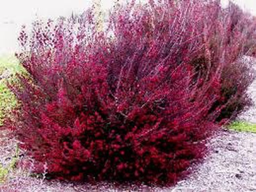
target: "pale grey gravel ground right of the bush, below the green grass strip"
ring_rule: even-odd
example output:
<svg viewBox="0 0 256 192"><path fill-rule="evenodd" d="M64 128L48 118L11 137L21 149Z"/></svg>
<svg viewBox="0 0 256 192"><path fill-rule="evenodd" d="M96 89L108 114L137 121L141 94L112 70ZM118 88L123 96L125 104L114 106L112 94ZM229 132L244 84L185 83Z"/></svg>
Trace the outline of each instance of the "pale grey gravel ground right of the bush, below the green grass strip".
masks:
<svg viewBox="0 0 256 192"><path fill-rule="evenodd" d="M205 162L173 192L256 192L256 134L226 131L208 145Z"/></svg>

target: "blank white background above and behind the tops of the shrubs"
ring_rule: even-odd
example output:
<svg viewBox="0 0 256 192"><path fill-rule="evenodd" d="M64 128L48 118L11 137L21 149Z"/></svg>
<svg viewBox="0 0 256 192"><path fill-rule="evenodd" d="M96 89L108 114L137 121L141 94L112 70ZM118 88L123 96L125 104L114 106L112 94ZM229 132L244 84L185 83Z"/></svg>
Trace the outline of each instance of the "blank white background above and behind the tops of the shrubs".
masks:
<svg viewBox="0 0 256 192"><path fill-rule="evenodd" d="M0 0L0 54L17 50L17 35L21 25L29 25L36 18L68 16L81 13L93 0ZM145 1L145 0L141 0ZM225 4L227 0L222 0ZM256 15L256 0L234 0ZM114 0L101 0L108 9Z"/></svg>

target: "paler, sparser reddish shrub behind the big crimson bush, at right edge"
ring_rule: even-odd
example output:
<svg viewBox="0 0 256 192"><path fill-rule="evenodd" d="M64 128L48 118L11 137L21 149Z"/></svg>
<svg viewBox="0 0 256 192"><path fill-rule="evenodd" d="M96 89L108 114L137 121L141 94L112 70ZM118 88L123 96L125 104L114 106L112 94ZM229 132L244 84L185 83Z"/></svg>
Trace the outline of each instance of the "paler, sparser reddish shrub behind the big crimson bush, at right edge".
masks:
<svg viewBox="0 0 256 192"><path fill-rule="evenodd" d="M223 118L234 119L239 112L252 105L246 91L255 79L255 59L241 56L255 55L256 20L232 3L227 10L230 18L226 32L225 57L233 62L225 63L222 70L222 104L225 104L225 107L217 118L218 121Z"/></svg>

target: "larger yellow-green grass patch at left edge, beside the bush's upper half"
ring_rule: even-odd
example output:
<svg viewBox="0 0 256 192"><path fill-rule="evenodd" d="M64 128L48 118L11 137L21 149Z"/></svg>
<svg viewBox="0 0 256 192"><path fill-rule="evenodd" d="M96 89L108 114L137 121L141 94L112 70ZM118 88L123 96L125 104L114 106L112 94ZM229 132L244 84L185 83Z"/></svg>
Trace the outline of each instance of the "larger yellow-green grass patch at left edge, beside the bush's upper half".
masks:
<svg viewBox="0 0 256 192"><path fill-rule="evenodd" d="M16 74L24 71L19 64L18 59L14 55L0 55L0 76L2 74ZM9 77L0 80L0 126L3 124L3 119L17 106L15 96L6 86L8 80L14 80L14 77Z"/></svg>

